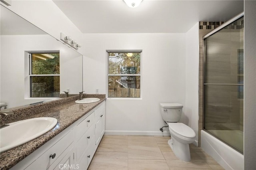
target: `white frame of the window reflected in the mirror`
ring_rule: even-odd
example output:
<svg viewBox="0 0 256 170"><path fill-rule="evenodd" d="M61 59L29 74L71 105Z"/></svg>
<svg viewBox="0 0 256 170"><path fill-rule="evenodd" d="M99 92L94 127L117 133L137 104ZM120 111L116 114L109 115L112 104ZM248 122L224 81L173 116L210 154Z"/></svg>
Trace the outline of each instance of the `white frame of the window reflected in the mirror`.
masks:
<svg viewBox="0 0 256 170"><path fill-rule="evenodd" d="M32 74L32 54L46 54L46 53L59 53L60 51L26 51L28 53L27 57L27 64L25 64L25 67L27 66L27 74L25 73L25 77L27 75L27 80L25 81L27 83L27 88L26 88L26 94L25 94L25 99L56 99L58 97L31 97L32 93L32 82L31 82L31 77L45 77L45 76L59 76L60 74ZM25 61L26 62L26 61Z"/></svg>

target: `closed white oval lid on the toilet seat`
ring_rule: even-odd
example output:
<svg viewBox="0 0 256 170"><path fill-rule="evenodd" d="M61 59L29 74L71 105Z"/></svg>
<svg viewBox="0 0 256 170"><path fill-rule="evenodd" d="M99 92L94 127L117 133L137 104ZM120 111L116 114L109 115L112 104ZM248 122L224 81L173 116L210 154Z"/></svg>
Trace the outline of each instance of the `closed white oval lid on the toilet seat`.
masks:
<svg viewBox="0 0 256 170"><path fill-rule="evenodd" d="M172 132L184 136L186 138L194 138L196 133L194 130L183 123L168 123L169 129Z"/></svg>

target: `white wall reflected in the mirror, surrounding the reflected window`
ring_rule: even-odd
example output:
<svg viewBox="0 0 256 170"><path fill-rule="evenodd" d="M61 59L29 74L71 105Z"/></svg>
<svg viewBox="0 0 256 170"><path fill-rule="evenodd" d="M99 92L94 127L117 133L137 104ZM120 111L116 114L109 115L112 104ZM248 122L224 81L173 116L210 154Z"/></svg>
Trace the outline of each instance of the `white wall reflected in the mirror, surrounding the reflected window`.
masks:
<svg viewBox="0 0 256 170"><path fill-rule="evenodd" d="M46 43L47 42L47 43ZM25 51L60 51L60 92L82 91L82 56L49 35L1 36L1 102L7 108L44 101L26 99Z"/></svg>

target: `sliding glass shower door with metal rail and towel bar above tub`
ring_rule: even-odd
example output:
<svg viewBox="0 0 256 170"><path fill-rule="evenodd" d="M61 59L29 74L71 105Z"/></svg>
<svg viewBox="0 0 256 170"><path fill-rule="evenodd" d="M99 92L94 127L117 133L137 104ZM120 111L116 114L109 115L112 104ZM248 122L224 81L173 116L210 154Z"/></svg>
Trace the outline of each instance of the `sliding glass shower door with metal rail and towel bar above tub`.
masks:
<svg viewBox="0 0 256 170"><path fill-rule="evenodd" d="M243 154L244 16L204 36L204 130Z"/></svg>

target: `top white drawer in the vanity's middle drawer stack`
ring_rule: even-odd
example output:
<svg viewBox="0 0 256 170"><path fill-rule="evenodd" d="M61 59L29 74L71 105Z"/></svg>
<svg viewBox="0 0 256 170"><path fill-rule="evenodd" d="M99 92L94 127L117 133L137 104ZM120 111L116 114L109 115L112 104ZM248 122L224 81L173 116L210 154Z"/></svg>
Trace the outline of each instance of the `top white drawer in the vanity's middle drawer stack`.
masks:
<svg viewBox="0 0 256 170"><path fill-rule="evenodd" d="M76 140L79 140L92 125L94 125L94 112L76 126Z"/></svg>

